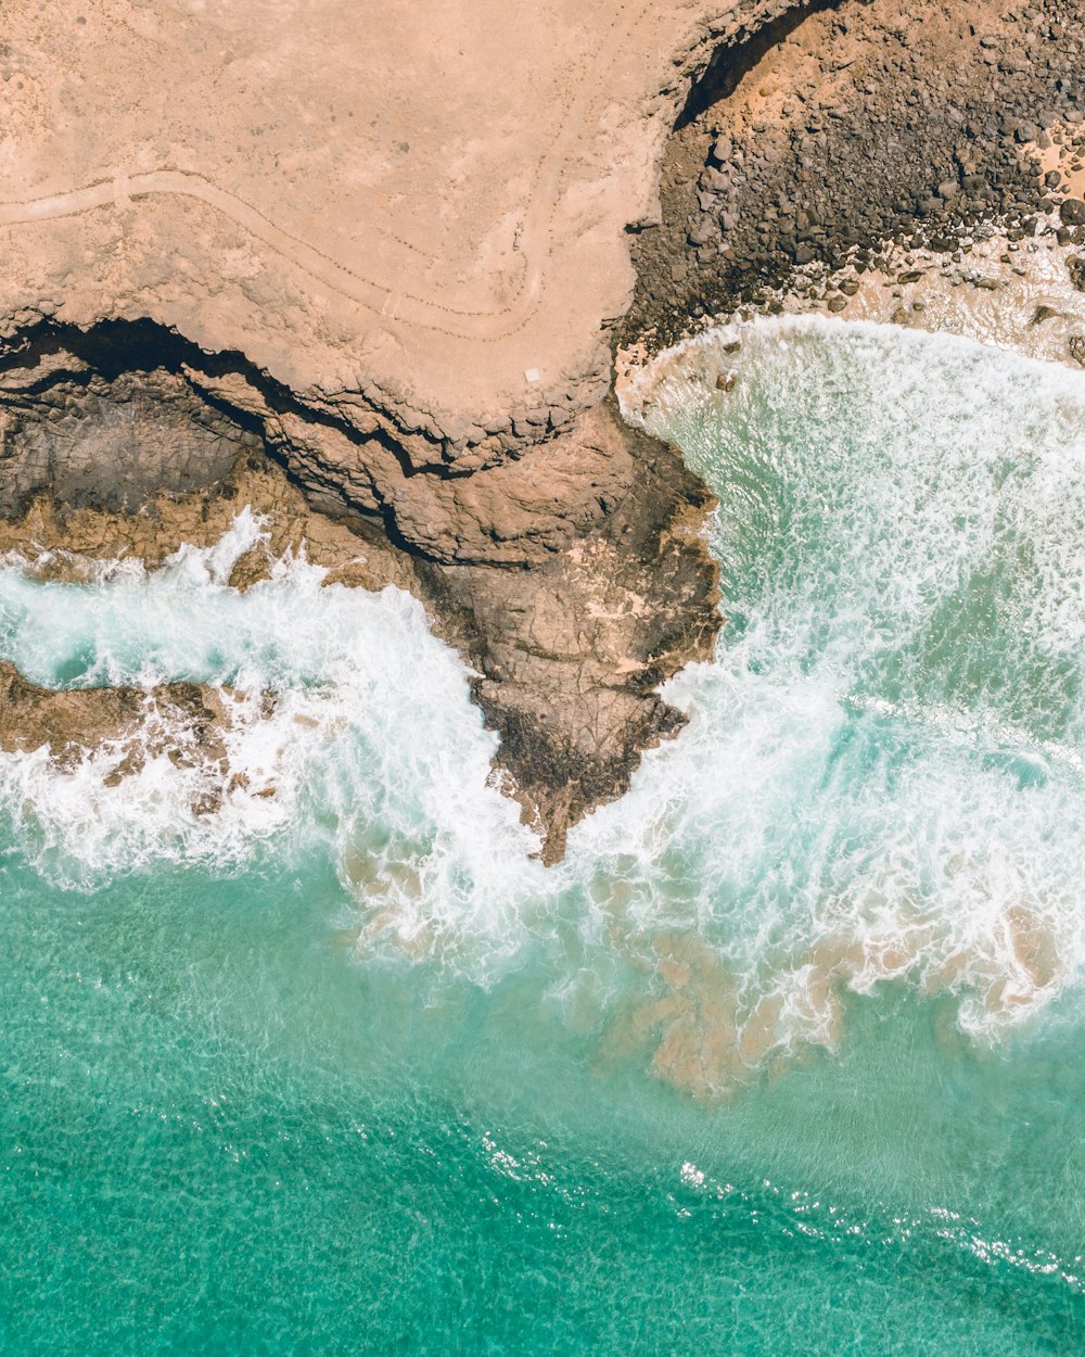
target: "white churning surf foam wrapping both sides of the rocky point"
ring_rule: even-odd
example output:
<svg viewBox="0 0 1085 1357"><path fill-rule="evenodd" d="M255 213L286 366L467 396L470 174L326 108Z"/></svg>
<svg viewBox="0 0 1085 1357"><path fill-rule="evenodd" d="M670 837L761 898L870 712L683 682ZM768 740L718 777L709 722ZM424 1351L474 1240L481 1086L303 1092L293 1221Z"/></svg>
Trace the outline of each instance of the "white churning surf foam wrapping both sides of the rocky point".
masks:
<svg viewBox="0 0 1085 1357"><path fill-rule="evenodd" d="M361 959L487 984L530 949L601 1049L708 1098L835 1048L849 993L943 995L989 1041L1074 991L1085 380L873 326L741 337L627 391L720 495L728 622L667 687L688 729L557 868L495 790L495 737L420 605L328 588L304 558L232 590L262 533L247 512L155 574L0 570L0 653L30 678L193 678L233 712L209 816L191 811L208 773L164 759L111 787L110 749L66 771L3 756L20 849L79 886L324 851Z"/></svg>

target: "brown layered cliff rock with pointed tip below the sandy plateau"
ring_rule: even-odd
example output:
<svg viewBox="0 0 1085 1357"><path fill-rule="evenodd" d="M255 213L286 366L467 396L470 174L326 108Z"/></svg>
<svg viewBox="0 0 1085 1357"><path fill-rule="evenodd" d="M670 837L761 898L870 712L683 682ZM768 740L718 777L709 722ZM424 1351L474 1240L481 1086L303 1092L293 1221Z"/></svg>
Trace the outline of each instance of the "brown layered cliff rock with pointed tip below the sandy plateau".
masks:
<svg viewBox="0 0 1085 1357"><path fill-rule="evenodd" d="M719 628L711 497L613 399L473 472L412 465L358 422L149 322L34 326L0 350L0 550L50 577L126 555L153 567L251 505L270 540L237 586L304 544L328 582L411 590L469 665L503 786L555 862L570 825L685 723L655 688ZM136 700L53 696L23 693L12 731L26 718L39 733L47 708L54 737L81 745Z"/></svg>

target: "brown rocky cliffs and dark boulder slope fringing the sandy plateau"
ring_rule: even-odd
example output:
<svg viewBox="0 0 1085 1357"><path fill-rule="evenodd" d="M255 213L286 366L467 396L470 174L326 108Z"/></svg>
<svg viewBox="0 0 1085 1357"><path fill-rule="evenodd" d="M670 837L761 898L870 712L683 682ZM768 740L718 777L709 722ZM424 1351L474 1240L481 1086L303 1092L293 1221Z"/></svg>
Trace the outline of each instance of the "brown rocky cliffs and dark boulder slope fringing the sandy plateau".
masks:
<svg viewBox="0 0 1085 1357"><path fill-rule="evenodd" d="M724 27L677 109L660 217L629 228L636 288L608 330L620 366L735 315L952 327L953 288L1004 309L1021 292L1012 323L1035 322L1038 353L1085 361L1085 312L1014 282L1043 247L1063 290L1085 286L1085 15L854 0ZM269 541L239 588L304 544L330 584L408 589L468 664L500 780L555 862L681 729L656 689L720 626L711 497L602 395L589 373L491 421L422 418L294 389L157 322L80 326L35 303L0 345L0 551L50 577L153 567L251 506ZM41 737L71 757L95 704L110 738L134 721L130 693L73 706L5 683L5 749ZM197 744L217 757L214 700L199 702Z"/></svg>

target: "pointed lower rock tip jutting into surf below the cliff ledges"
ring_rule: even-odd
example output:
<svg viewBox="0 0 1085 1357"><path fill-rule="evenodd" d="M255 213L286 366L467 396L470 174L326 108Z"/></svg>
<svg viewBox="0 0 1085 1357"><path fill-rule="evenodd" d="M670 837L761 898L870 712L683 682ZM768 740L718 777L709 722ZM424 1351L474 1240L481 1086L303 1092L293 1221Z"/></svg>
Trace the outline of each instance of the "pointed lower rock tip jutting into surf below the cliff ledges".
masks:
<svg viewBox="0 0 1085 1357"><path fill-rule="evenodd" d="M570 465L605 456L612 467L590 527L526 571L430 577L438 627L480 673L475 695L545 860L570 825L628 788L642 749L685 725L655 689L709 658L720 624L701 536L712 501L679 456L621 425L610 402L568 444Z"/></svg>

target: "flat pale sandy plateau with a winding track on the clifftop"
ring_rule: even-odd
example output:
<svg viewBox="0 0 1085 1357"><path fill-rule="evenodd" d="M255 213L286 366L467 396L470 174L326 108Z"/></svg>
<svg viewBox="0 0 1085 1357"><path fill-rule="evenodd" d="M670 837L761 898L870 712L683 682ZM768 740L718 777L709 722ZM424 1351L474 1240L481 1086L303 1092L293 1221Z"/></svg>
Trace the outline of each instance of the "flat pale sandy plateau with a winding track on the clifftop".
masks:
<svg viewBox="0 0 1085 1357"><path fill-rule="evenodd" d="M597 385L678 68L778 8L9 0L0 311L149 315L442 426Z"/></svg>

